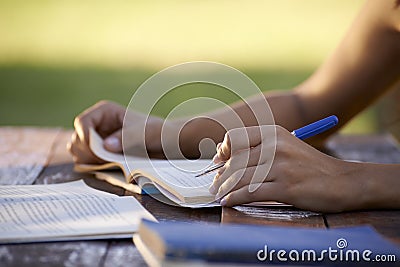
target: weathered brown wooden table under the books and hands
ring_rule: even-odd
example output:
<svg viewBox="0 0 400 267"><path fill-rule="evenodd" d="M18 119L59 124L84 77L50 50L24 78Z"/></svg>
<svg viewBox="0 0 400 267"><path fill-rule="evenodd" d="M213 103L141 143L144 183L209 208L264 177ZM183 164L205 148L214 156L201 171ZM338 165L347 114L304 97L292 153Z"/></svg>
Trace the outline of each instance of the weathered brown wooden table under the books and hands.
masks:
<svg viewBox="0 0 400 267"><path fill-rule="evenodd" d="M90 186L118 195L132 195L117 187L73 171L66 144L71 130L46 128L0 128L0 183L50 184L83 178ZM328 152L343 158L400 163L398 144L389 135L336 136ZM400 211L361 211L319 214L293 208L188 209L135 195L158 220L183 220L264 225L295 225L332 228L370 224L400 244ZM81 241L0 245L0 266L143 266L131 240Z"/></svg>

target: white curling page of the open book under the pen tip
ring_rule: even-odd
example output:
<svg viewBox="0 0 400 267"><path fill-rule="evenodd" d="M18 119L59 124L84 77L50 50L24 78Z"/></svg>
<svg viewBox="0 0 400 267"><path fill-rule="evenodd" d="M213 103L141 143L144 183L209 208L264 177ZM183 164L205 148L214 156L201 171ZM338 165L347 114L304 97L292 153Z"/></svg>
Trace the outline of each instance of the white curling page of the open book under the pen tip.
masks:
<svg viewBox="0 0 400 267"><path fill-rule="evenodd" d="M160 160L133 156L124 157L123 154L107 151L103 147L103 139L93 129L90 129L90 148L96 156L103 160L117 162L123 169L127 179L130 179L130 174L133 175L132 177L136 181L141 176L150 178L156 184L158 191L179 205L183 206L185 204L185 201L183 201L184 198L194 198L196 200L193 201L196 201L198 204L201 202L198 198L201 198L203 201L202 205L209 205L214 200L214 196L208 191L214 174L210 173L195 177L196 174L212 165L211 159ZM127 180L127 183L129 182ZM215 203L212 205L215 206Z"/></svg>

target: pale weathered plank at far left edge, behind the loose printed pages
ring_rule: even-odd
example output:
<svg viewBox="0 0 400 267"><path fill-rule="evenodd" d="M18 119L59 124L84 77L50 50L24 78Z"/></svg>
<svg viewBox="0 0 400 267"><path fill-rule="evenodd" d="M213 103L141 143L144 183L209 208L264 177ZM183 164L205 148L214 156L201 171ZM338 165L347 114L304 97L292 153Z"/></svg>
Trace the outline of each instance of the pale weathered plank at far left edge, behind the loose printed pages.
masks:
<svg viewBox="0 0 400 267"><path fill-rule="evenodd" d="M0 128L0 184L32 184L47 164L60 129Z"/></svg>

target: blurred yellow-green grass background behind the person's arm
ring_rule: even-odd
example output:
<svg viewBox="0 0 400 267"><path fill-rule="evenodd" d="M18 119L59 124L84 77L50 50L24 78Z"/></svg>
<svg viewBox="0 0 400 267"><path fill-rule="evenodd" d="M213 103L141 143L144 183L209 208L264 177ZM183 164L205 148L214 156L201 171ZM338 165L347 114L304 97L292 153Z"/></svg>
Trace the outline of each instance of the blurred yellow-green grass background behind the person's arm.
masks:
<svg viewBox="0 0 400 267"><path fill-rule="evenodd" d="M0 0L0 125L72 127L97 101L126 105L152 74L194 60L228 64L262 90L290 89L329 56L362 3ZM376 131L375 114L344 131Z"/></svg>

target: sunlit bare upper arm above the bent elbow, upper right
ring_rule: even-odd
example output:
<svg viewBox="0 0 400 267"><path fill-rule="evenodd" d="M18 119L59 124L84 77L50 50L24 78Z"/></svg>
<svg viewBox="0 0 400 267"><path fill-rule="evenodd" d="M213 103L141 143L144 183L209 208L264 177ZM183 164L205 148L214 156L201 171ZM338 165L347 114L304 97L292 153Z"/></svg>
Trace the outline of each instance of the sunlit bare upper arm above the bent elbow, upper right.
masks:
<svg viewBox="0 0 400 267"><path fill-rule="evenodd" d="M368 1L332 56L296 88L307 121L336 114L344 125L396 82L400 9Z"/></svg>

